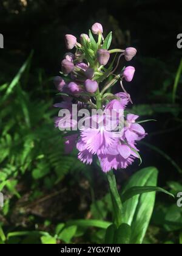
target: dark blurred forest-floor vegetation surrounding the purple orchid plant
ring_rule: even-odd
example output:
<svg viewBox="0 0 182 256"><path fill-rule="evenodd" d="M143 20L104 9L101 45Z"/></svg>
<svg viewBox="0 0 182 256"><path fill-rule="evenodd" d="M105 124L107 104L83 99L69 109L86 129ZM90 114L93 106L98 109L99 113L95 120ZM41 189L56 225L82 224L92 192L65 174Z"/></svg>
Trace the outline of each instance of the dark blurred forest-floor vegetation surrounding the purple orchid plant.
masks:
<svg viewBox="0 0 182 256"><path fill-rule="evenodd" d="M96 163L84 166L76 151L64 154L52 107L58 101L52 77L58 75L66 52L64 34L79 37L96 21L103 24L104 34L113 31L113 48L138 50L131 63L135 79L125 87L134 102L133 113L157 119L144 124L149 135L140 144L141 167L157 167L160 187L175 195L182 191L182 49L177 48L182 16L173 3L0 2L0 191L5 199L0 243L104 241L111 218L107 182ZM138 169L135 163L118 170L118 185ZM144 243L182 243L182 208L173 199L157 194Z"/></svg>

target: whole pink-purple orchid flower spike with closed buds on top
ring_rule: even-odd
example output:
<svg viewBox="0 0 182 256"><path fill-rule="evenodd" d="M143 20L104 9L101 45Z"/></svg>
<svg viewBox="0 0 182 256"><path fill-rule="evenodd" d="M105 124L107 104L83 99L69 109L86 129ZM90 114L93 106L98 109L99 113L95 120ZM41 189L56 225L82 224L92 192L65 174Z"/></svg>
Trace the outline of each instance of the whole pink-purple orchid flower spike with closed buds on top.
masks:
<svg viewBox="0 0 182 256"><path fill-rule="evenodd" d="M126 168L135 158L140 158L136 143L145 137L146 132L137 123L139 116L126 112L126 107L132 100L123 87L123 80L132 81L135 68L126 66L120 69L119 74L115 74L115 71L121 57L129 62L136 55L136 49L130 47L125 50L109 50L112 32L104 38L103 26L99 23L93 24L89 35L81 34L79 43L73 35L66 35L65 41L67 49L75 48L76 51L74 54L67 52L64 55L61 62L62 76L56 76L54 83L63 99L55 107L66 108L70 112L69 118L59 116L55 120L56 127L60 128L64 123L64 127L70 129L69 132L64 132L66 153L76 146L79 160L91 164L93 155L97 155L104 172ZM116 55L115 58L112 58L112 54ZM118 62L114 67L118 54ZM112 60L110 64L109 60ZM110 88L119 80L123 91L110 93ZM89 125L83 125L75 131L72 104L77 104L79 109L86 108L90 113L93 109L102 110L102 114L96 113L85 118L89 119ZM115 118L113 113L116 114ZM110 119L112 128L107 129ZM120 122L120 119L123 121Z"/></svg>

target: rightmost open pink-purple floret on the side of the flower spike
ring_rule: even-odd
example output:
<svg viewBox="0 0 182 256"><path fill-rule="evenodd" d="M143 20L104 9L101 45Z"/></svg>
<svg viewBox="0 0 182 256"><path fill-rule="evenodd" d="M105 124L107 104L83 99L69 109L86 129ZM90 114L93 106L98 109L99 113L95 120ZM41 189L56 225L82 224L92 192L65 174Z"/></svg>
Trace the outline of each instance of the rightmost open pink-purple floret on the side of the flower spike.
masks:
<svg viewBox="0 0 182 256"><path fill-rule="evenodd" d="M124 135L129 143L139 141L146 136L146 132L140 124L135 123L139 116L128 114L126 116L126 127L124 127Z"/></svg>

